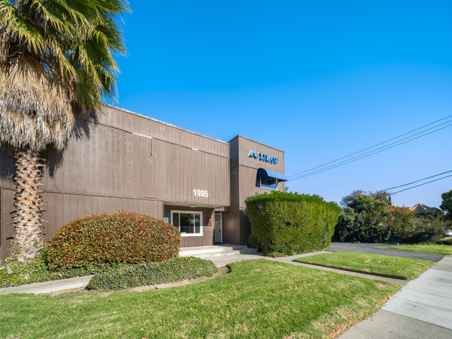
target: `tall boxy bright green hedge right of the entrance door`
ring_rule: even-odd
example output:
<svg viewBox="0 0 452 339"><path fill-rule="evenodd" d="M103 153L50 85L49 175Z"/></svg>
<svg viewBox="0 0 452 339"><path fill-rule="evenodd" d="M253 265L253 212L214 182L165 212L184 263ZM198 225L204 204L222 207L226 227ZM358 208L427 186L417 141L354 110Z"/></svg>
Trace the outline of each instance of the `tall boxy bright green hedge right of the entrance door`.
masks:
<svg viewBox="0 0 452 339"><path fill-rule="evenodd" d="M318 195L273 191L245 199L254 234L252 245L264 254L286 256L330 245L341 208Z"/></svg>

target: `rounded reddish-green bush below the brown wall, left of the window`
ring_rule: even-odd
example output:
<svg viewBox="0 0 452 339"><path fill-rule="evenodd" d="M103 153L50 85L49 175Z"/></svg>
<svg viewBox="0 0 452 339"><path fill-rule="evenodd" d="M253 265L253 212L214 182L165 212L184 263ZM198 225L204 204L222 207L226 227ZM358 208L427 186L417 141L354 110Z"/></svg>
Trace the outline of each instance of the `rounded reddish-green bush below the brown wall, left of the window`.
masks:
<svg viewBox="0 0 452 339"><path fill-rule="evenodd" d="M175 226L122 211L90 215L65 224L47 242L45 257L51 270L149 263L177 258L180 242Z"/></svg>

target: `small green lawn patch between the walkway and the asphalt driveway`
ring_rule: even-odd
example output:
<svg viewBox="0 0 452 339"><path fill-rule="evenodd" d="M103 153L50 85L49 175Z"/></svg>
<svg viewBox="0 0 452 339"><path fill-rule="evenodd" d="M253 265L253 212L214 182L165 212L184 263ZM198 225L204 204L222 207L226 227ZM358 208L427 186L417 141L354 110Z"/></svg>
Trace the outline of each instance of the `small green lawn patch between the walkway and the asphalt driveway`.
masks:
<svg viewBox="0 0 452 339"><path fill-rule="evenodd" d="M357 252L317 254L298 258L295 261L404 280L416 278L435 263L435 261Z"/></svg>

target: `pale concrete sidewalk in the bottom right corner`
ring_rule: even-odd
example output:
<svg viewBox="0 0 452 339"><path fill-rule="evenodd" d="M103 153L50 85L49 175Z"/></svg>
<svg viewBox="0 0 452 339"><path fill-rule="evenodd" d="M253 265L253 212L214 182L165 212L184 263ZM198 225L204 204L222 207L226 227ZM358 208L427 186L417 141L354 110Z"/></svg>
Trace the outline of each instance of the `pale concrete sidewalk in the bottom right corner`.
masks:
<svg viewBox="0 0 452 339"><path fill-rule="evenodd" d="M452 257L407 283L341 339L452 338Z"/></svg>

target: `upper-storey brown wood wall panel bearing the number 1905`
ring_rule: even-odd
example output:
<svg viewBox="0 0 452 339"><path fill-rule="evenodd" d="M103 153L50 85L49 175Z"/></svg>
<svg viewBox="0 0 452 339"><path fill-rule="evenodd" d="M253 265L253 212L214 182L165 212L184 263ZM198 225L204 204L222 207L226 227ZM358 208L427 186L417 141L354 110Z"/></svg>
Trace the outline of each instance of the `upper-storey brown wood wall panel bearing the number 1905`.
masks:
<svg viewBox="0 0 452 339"><path fill-rule="evenodd" d="M97 123L76 119L63 153L42 156L44 191L229 205L226 142L120 108L106 108Z"/></svg>

